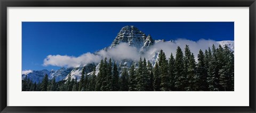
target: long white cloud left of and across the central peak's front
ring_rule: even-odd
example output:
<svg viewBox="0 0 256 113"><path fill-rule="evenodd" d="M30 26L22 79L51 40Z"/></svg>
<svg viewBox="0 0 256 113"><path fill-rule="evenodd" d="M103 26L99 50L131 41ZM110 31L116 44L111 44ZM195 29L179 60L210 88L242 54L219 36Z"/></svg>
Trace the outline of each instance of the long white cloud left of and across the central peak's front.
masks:
<svg viewBox="0 0 256 113"><path fill-rule="evenodd" d="M135 47L131 47L126 43L121 43L111 50L101 50L95 54L85 53L78 57L68 55L48 55L44 59L43 66L59 66L59 67L78 67L87 63L99 63L103 58L111 58L115 60L138 59L139 54Z"/></svg>

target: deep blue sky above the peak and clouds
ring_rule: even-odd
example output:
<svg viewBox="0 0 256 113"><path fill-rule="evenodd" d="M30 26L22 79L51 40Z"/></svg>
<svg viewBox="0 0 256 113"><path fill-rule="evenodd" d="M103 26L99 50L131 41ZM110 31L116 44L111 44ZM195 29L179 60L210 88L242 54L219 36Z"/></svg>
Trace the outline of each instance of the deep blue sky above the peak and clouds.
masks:
<svg viewBox="0 0 256 113"><path fill-rule="evenodd" d="M59 69L42 65L47 55L79 56L101 50L126 25L166 41L234 41L234 22L22 22L22 70Z"/></svg>

